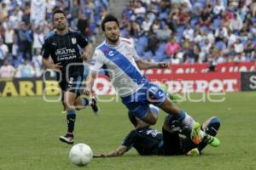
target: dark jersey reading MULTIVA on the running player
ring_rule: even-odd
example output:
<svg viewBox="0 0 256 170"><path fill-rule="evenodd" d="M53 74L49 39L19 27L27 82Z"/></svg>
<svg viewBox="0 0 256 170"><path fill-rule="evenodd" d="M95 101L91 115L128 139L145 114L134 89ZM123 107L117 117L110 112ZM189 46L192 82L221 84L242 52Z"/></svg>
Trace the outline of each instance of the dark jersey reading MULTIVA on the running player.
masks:
<svg viewBox="0 0 256 170"><path fill-rule="evenodd" d="M80 49L87 44L85 37L78 31L69 30L65 35L51 31L44 40L42 56L44 59L48 59L50 55L55 64L61 63L63 66L61 71L66 71L67 65L70 63L79 63L79 65L72 66L72 71L84 71Z"/></svg>

